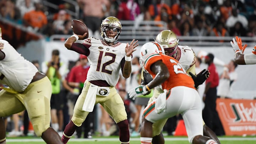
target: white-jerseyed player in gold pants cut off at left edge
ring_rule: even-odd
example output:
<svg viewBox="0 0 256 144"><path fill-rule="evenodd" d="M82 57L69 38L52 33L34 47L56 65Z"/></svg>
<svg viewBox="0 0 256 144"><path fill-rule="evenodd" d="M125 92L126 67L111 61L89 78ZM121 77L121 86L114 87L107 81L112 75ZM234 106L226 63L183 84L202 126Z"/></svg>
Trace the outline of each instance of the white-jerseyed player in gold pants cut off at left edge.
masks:
<svg viewBox="0 0 256 144"><path fill-rule="evenodd" d="M0 144L6 144L2 117L27 110L34 132L47 144L61 144L50 127L52 86L46 75L24 59L9 42L1 38L0 28Z"/></svg>

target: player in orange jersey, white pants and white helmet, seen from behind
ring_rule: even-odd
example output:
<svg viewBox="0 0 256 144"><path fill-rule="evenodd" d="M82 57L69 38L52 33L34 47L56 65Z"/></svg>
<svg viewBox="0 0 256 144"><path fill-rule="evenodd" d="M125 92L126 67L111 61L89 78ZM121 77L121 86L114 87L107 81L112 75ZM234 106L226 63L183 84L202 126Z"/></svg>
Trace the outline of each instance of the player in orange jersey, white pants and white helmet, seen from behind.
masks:
<svg viewBox="0 0 256 144"><path fill-rule="evenodd" d="M140 50L140 63L153 77L147 85L140 85L130 90L130 97L148 93L160 86L162 93L155 98L143 112L144 120L140 131L141 144L152 142L153 123L160 119L181 114L191 144L217 144L213 139L203 136L202 107L193 79L187 75L181 64L165 55L158 43L148 42Z"/></svg>

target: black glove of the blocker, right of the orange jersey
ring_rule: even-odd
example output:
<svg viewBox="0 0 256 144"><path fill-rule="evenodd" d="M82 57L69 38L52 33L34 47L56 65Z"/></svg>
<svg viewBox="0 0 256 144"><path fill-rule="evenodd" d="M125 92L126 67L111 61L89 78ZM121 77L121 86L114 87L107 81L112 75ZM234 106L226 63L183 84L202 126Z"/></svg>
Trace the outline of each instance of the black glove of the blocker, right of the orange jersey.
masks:
<svg viewBox="0 0 256 144"><path fill-rule="evenodd" d="M189 74L191 75L192 79L194 80L194 87L197 89L199 85L202 85L203 82L209 78L209 70L203 69L200 73L198 73L197 75L192 74L191 72L189 72Z"/></svg>

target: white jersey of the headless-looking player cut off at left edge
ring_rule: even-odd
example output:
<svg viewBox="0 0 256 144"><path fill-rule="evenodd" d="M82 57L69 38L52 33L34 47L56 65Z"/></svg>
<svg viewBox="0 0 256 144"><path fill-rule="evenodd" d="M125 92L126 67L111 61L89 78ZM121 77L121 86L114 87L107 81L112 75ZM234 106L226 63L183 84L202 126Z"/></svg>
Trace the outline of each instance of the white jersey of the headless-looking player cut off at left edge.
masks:
<svg viewBox="0 0 256 144"><path fill-rule="evenodd" d="M24 91L38 70L7 41L0 39L0 43L4 45L2 52L5 53L5 58L0 60L0 75L4 75L0 83L17 92Z"/></svg>

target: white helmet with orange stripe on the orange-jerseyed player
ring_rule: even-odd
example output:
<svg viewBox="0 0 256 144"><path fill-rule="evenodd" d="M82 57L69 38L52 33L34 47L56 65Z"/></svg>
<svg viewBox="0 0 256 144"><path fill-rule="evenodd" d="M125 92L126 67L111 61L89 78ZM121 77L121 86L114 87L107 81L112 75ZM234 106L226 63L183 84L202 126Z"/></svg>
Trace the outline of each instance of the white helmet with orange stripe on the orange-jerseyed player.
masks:
<svg viewBox="0 0 256 144"><path fill-rule="evenodd" d="M140 48L140 66L144 67L145 60L152 54L165 54L164 48L156 42L147 42Z"/></svg>

